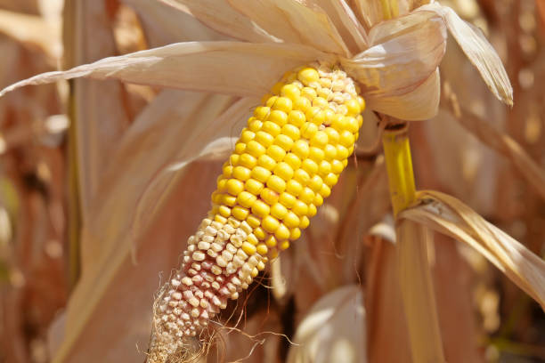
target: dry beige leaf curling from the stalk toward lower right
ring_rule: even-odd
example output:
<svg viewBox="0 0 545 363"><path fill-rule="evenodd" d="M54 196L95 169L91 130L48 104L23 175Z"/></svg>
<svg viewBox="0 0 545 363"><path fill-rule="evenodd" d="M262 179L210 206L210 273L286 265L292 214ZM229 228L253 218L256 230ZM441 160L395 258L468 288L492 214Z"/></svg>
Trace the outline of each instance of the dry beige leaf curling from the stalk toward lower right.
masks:
<svg viewBox="0 0 545 363"><path fill-rule="evenodd" d="M539 256L456 198L424 190L418 192L417 203L399 217L472 246L545 310L545 262Z"/></svg>

